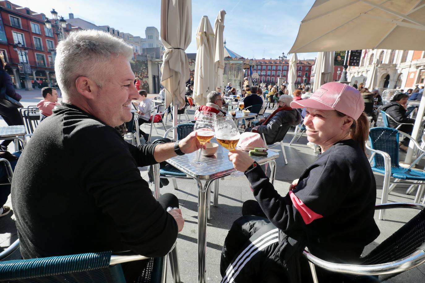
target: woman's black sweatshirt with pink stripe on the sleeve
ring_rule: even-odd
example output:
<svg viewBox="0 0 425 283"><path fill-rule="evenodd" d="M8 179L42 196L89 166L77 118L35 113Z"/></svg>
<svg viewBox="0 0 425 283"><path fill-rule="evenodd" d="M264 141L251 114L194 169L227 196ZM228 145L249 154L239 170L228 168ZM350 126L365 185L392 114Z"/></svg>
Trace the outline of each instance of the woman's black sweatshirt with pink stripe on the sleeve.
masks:
<svg viewBox="0 0 425 283"><path fill-rule="evenodd" d="M374 175L354 140L319 155L286 196L275 191L259 166L246 177L267 218L291 237L304 231L308 247L323 259L353 262L380 233L374 221Z"/></svg>

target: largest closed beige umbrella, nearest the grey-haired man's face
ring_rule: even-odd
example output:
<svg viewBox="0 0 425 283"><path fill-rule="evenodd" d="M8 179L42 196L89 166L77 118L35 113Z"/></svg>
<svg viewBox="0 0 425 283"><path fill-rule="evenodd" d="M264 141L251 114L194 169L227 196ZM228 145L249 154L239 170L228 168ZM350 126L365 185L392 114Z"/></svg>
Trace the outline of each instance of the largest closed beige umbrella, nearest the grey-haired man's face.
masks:
<svg viewBox="0 0 425 283"><path fill-rule="evenodd" d="M166 90L166 106L171 104L173 98L176 98L181 107L185 105L184 94L190 70L184 50L192 40L191 34L192 2L161 0L161 40L165 48L161 65L161 84Z"/></svg>

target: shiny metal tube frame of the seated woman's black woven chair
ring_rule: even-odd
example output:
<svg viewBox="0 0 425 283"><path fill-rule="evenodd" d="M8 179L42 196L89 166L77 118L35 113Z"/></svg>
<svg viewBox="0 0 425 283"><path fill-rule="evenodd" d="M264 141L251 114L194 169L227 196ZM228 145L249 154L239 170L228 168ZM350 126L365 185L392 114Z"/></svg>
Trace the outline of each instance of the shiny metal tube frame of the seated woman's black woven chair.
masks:
<svg viewBox="0 0 425 283"><path fill-rule="evenodd" d="M418 210L424 210L424 205L416 203L385 203L375 206L375 210L390 209L390 208L414 208ZM316 268L319 266L322 269L326 269L331 272L344 273L351 275L391 275L405 272L425 262L425 243L417 247L416 250L405 258L401 258L397 261L381 264L369 264L369 265L356 265L356 264L344 264L344 263L332 263L324 261L317 256L314 256L308 249L303 251L303 256L309 261L310 269L312 272L313 282L318 283Z"/></svg>

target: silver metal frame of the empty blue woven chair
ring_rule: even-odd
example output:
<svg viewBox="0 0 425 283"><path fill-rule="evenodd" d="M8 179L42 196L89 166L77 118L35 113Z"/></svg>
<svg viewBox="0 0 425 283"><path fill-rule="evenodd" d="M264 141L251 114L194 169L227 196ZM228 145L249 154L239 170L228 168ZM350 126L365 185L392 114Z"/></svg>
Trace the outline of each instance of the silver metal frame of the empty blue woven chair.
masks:
<svg viewBox="0 0 425 283"><path fill-rule="evenodd" d="M373 129L377 129L377 128L373 128ZM385 128L383 128L385 129ZM416 160L414 160L414 162L407 168L407 169L413 169L413 166L416 165L416 163L419 162L419 160L421 160L423 157L425 157L425 149L422 149L419 146L419 143L414 140L410 135L401 132L397 129L392 129L392 128L387 128L387 129L391 129L394 131L397 131L399 134L403 134L406 137L410 138L411 141L413 141L414 145L418 148L419 151L422 151L422 154L416 158ZM370 139L370 137L369 137ZM397 145L398 146L398 145ZM384 169L385 169L385 174L384 174L384 181L383 181L383 185L382 185L382 197L381 197L381 204L384 204L388 201L388 194L397 186L397 185L415 185L416 184L419 185L418 191L416 193L414 202L419 202L420 199L422 198L422 194L424 192L424 187L425 187L425 181L412 181L412 182L401 182L401 179L395 179L394 182L391 182L391 176L392 176L392 172L391 172L391 157L387 152L384 151L380 151L380 150L376 150L376 149L372 149L370 146L368 146L368 144L366 143L366 148L370 151L372 151L371 157L369 158L369 163L374 159L375 154L380 154L383 157L384 160ZM394 163L398 164L398 160L393 160ZM374 167L372 167L373 170ZM380 172L378 172L380 173ZM405 179L406 181L409 179ZM390 184L393 184L390 186ZM410 190L410 188L408 189L408 191ZM412 189L413 190L413 189ZM425 200L424 200L425 202ZM380 220L385 220L385 209L380 210L379 213L379 219Z"/></svg>

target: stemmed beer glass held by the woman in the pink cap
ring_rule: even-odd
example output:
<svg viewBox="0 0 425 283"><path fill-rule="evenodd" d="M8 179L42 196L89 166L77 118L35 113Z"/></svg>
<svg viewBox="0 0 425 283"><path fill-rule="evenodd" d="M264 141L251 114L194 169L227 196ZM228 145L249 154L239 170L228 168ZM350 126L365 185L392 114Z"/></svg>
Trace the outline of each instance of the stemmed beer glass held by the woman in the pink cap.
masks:
<svg viewBox="0 0 425 283"><path fill-rule="evenodd" d="M236 148L239 141L239 130L233 119L229 116L218 118L215 120L214 126L215 139L224 148L232 151ZM231 177L239 177L244 173L241 171L235 171L230 174Z"/></svg>

